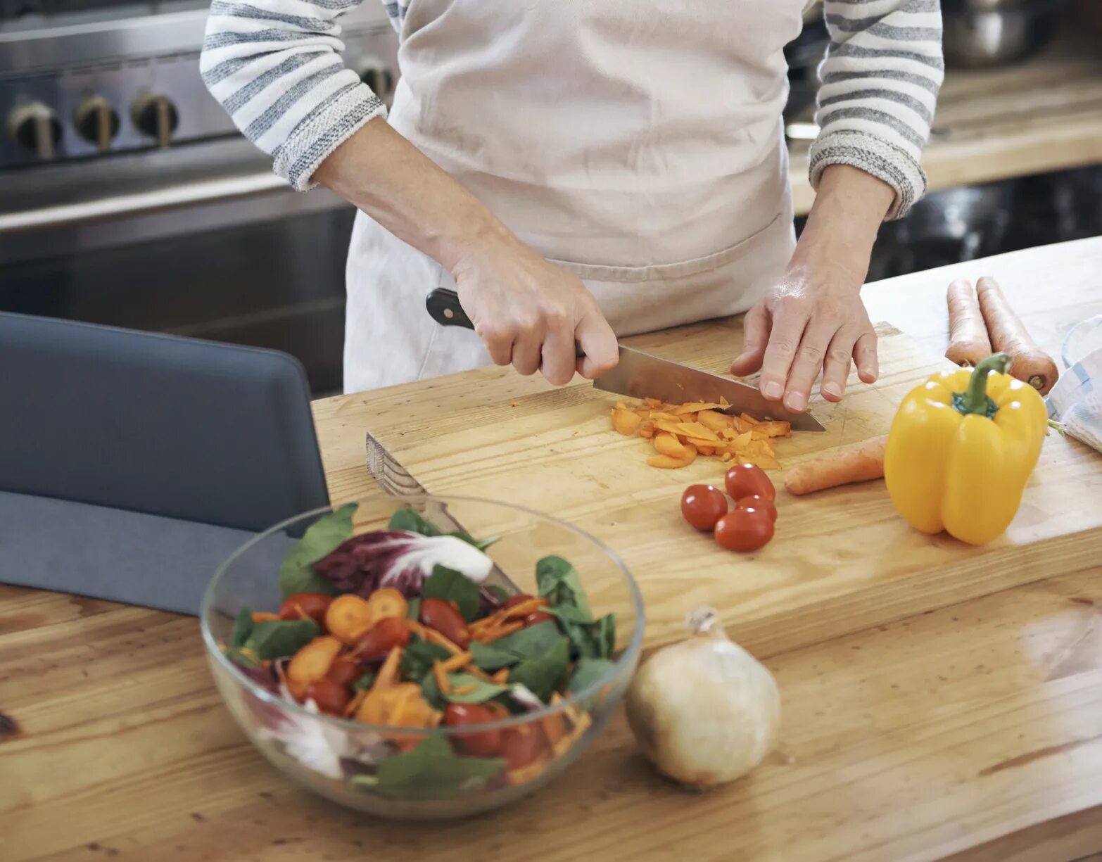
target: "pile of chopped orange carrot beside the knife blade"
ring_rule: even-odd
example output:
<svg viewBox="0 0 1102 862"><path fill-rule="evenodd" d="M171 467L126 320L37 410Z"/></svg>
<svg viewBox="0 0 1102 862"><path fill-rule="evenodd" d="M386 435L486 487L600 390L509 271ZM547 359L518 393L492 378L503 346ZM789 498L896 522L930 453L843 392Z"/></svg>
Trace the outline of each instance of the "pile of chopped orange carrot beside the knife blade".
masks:
<svg viewBox="0 0 1102 862"><path fill-rule="evenodd" d="M698 455L779 467L771 440L791 437L789 423L761 422L745 413L722 412L728 407L725 400L667 405L647 398L635 407L620 402L612 411L613 428L625 437L638 434L649 440L657 454L648 457L647 463L661 470L688 466Z"/></svg>

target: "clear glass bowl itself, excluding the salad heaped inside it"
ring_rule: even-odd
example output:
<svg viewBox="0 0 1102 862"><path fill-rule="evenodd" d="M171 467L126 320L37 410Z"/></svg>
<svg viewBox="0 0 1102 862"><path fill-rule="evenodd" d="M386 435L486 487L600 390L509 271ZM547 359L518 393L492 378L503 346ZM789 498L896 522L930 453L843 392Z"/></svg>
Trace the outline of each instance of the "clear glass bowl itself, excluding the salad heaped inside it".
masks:
<svg viewBox="0 0 1102 862"><path fill-rule="evenodd" d="M588 748L624 697L638 664L642 599L628 570L596 539L511 504L429 496L367 499L357 504L353 534L385 529L391 516L407 507L444 531L462 529L471 536L497 538L486 549L495 568L485 586L536 595L537 562L548 556L570 561L587 594L593 618L615 614L609 665L598 666L602 672L579 683L576 691L554 696L551 705L537 709L529 703L530 711L463 728L365 724L307 709L313 702L300 705L282 697L271 687L270 676L247 672L227 658L223 648L231 639L239 611L270 613L279 608L278 577L283 558L310 525L333 511L329 508L272 527L223 564L203 599L203 639L215 683L230 713L280 771L324 797L375 815L465 817L533 793ZM261 685L261 677L268 687ZM519 705L512 702L512 708ZM521 747L532 751L536 746L539 753L530 762L531 755L510 755L508 759L469 756L463 735L471 734L472 728L489 732L488 739L503 743L523 737L531 745ZM538 740L538 745L532 740Z"/></svg>

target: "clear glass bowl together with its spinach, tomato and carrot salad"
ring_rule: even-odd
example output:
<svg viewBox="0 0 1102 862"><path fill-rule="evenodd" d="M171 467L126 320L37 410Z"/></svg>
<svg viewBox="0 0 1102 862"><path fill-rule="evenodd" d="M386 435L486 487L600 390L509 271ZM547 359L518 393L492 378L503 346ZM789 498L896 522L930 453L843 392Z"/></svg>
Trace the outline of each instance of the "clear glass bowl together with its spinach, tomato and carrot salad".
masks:
<svg viewBox="0 0 1102 862"><path fill-rule="evenodd" d="M573 763L630 681L642 605L582 531L478 499L310 513L239 549L201 613L223 698L279 768L403 818L484 811Z"/></svg>

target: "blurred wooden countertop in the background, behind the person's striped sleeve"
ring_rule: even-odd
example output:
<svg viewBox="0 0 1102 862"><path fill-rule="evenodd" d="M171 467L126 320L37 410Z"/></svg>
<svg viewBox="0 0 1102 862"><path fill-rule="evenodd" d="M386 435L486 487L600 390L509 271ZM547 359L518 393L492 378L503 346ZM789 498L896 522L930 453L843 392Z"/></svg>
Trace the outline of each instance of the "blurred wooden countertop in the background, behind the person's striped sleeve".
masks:
<svg viewBox="0 0 1102 862"><path fill-rule="evenodd" d="M807 117L810 119L810 110ZM789 147L792 201L811 208L808 142ZM1000 69L951 68L922 166L930 188L986 183L1102 162L1102 36L1065 35Z"/></svg>

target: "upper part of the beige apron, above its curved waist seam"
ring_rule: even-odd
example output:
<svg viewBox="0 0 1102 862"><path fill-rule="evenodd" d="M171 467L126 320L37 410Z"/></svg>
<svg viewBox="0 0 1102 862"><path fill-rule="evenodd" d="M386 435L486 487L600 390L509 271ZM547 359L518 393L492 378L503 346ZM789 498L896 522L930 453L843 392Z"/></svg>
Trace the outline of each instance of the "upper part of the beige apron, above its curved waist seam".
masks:
<svg viewBox="0 0 1102 862"><path fill-rule="evenodd" d="M804 0L412 0L391 123L548 257L673 265L788 193Z"/></svg>

